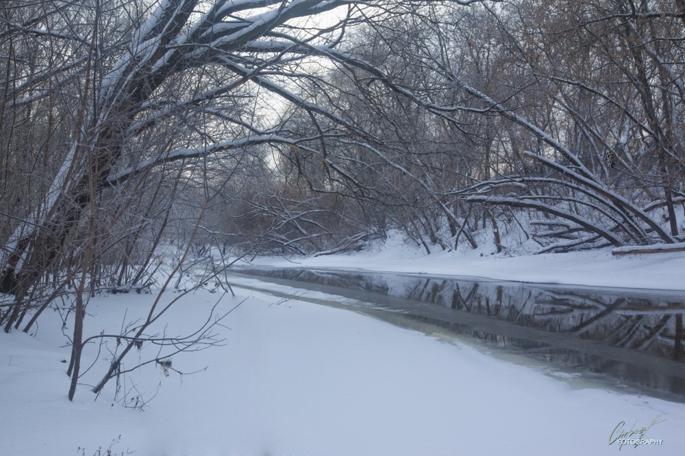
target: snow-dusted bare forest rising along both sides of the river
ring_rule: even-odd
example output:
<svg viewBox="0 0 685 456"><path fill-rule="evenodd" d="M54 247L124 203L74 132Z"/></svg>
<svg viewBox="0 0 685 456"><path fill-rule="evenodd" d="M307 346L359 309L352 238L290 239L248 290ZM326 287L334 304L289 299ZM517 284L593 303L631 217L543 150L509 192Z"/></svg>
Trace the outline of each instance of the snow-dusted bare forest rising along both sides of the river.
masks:
<svg viewBox="0 0 685 456"><path fill-rule="evenodd" d="M5 1L0 324L69 302L72 398L97 293L390 230L682 243L684 37L685 0Z"/></svg>

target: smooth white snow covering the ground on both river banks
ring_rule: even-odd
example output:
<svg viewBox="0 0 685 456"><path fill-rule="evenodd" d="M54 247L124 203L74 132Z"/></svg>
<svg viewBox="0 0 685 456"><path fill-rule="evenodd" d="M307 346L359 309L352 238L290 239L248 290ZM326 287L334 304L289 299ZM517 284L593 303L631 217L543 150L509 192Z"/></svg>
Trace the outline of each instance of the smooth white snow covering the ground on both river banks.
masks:
<svg viewBox="0 0 685 456"><path fill-rule="evenodd" d="M422 256L398 243L298 263L685 290L685 254L480 253ZM295 265L279 258L257 263ZM0 453L105 455L111 444L113 455L160 456L684 454L684 403L621 394L349 310L239 286L236 293L223 297L223 310L248 299L217 327L224 344L173 358L179 371L206 371L165 377L149 365L122 382L119 398L129 405L157 392L142 412L114 401L114 382L94 400L88 385L108 366L106 350L82 377L75 401L66 399L62 360L69 347L56 312L33 337L0 334ZM198 291L182 298L164 321L166 334L197 327L217 297ZM118 331L125 311L135 319L152 299L92 299L87 335ZM85 368L96 349L88 347ZM146 346L125 363L149 356L157 352ZM621 446L623 438L640 437L650 444Z"/></svg>

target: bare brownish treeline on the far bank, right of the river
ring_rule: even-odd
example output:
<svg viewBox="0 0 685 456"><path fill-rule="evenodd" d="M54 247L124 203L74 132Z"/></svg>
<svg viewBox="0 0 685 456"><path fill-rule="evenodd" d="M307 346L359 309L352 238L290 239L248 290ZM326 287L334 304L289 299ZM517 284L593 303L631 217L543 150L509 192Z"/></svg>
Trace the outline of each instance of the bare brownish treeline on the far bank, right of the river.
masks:
<svg viewBox="0 0 685 456"><path fill-rule="evenodd" d="M537 252L676 242L684 20L680 3L651 1L384 17L325 76L334 100L321 83L306 92L365 134L309 126L301 135L316 139L297 144L325 152L290 148L281 161L305 177L309 204L346 197L350 232L400 228L427 252L475 247L486 227L522 230Z"/></svg>

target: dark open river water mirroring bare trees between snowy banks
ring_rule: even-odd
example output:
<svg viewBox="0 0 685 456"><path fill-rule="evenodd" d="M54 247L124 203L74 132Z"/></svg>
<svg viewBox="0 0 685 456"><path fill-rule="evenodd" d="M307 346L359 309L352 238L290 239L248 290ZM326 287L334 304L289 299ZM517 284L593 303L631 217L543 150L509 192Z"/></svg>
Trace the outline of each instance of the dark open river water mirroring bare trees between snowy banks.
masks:
<svg viewBox="0 0 685 456"><path fill-rule="evenodd" d="M497 347L685 397L684 293L330 270L240 271L318 284Z"/></svg>

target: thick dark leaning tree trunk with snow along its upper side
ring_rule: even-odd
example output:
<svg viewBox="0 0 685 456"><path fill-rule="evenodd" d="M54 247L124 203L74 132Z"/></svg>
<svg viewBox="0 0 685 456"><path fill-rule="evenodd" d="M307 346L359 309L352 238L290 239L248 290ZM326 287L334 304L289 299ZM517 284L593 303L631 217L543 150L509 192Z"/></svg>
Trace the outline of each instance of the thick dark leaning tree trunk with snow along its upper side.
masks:
<svg viewBox="0 0 685 456"><path fill-rule="evenodd" d="M4 322L5 331L21 313L23 296L58 258L86 206L109 185L108 176L121 157L124 133L136 111L166 77L179 70L173 65L152 67L167 53L169 42L182 30L196 4L197 0L164 2L134 33L131 51L98 81L94 80L99 67L95 51L98 30L94 27L75 142L42 202L0 252L0 292L16 297ZM91 98L95 99L92 107Z"/></svg>

